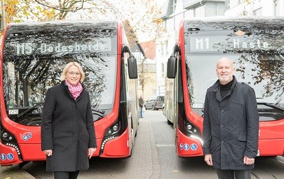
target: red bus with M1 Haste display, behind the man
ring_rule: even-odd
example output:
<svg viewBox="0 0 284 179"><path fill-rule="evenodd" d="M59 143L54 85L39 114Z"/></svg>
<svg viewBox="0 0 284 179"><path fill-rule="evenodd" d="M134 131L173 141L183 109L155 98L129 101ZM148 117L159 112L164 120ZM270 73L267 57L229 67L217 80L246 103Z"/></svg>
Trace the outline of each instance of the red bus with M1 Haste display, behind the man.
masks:
<svg viewBox="0 0 284 179"><path fill-rule="evenodd" d="M254 88L259 110L258 156L284 154L284 18L182 20L167 63L165 115L174 124L178 156L202 156L206 90L218 59L234 61L237 81Z"/></svg>

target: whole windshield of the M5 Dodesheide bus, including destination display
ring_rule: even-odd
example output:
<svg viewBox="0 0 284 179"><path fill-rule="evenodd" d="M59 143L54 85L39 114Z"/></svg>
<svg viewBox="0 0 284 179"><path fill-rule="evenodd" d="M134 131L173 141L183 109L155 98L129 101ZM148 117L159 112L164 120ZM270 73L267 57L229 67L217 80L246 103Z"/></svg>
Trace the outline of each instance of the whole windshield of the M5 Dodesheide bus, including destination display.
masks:
<svg viewBox="0 0 284 179"><path fill-rule="evenodd" d="M58 28L56 28L58 25ZM60 27L59 27L60 26ZM3 93L8 115L45 101L66 64L78 61L95 109L113 109L117 77L115 27L62 24L11 26L3 51ZM106 29L104 29L106 28Z"/></svg>

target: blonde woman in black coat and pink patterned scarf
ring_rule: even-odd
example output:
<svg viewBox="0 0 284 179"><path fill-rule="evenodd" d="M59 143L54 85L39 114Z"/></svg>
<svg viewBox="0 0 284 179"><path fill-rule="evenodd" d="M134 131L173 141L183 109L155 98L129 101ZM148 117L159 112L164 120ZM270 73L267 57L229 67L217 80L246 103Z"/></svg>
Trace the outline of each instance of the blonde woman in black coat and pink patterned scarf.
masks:
<svg viewBox="0 0 284 179"><path fill-rule="evenodd" d="M77 62L64 67L61 83L47 90L41 123L41 148L47 154L47 171L55 179L77 178L88 169L88 155L97 148L89 94Z"/></svg>

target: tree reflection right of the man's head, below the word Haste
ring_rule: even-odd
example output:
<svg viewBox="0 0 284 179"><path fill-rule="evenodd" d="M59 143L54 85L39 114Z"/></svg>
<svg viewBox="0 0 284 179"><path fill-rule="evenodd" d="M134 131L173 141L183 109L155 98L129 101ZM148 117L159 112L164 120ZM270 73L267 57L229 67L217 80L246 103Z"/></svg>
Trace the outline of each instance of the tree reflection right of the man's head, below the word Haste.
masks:
<svg viewBox="0 0 284 179"><path fill-rule="evenodd" d="M237 59L235 66L236 72L240 72L242 79L252 79L248 83L253 85L263 84L263 97L269 97L274 92L280 92L276 94L275 99L280 98L283 95L284 89L284 57L281 54L251 54L241 55ZM254 68L248 68L244 64L252 64ZM252 70L252 72L250 72ZM246 78L246 75L250 74L251 77Z"/></svg>

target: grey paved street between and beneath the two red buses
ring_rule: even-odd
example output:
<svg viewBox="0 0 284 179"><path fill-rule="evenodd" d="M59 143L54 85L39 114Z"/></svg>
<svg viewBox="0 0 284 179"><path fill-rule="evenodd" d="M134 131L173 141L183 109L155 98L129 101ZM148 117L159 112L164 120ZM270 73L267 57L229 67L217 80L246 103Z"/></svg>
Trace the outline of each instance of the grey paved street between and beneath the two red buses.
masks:
<svg viewBox="0 0 284 179"><path fill-rule="evenodd" d="M92 158L90 168L78 178L217 178L203 157L180 158L174 146L174 130L162 111L147 110L139 120L132 156L126 159ZM276 147L276 146L272 146ZM52 178L45 162L23 167L34 178ZM252 178L284 178L284 158L259 157Z"/></svg>

